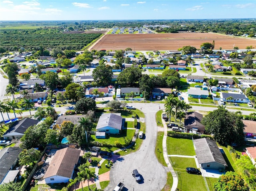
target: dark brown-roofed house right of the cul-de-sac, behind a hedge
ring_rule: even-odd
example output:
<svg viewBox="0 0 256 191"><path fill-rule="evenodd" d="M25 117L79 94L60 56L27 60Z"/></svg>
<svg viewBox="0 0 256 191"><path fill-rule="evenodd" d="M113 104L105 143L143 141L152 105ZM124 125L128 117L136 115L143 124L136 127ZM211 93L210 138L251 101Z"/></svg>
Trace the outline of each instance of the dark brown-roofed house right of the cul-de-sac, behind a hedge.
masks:
<svg viewBox="0 0 256 191"><path fill-rule="evenodd" d="M184 125L189 132L190 130L197 130L197 132L204 133L205 127L201 124L203 115L198 112L186 112L186 117L184 120Z"/></svg>

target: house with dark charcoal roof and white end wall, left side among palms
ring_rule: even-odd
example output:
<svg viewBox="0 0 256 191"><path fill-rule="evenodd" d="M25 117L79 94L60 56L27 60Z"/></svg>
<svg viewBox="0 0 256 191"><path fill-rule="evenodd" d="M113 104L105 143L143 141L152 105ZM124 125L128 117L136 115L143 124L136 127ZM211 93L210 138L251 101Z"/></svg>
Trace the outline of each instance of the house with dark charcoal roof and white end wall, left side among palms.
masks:
<svg viewBox="0 0 256 191"><path fill-rule="evenodd" d="M24 135L24 132L30 127L38 124L38 120L25 118L20 121L16 121L12 127L10 127L3 135L4 139L20 139Z"/></svg>

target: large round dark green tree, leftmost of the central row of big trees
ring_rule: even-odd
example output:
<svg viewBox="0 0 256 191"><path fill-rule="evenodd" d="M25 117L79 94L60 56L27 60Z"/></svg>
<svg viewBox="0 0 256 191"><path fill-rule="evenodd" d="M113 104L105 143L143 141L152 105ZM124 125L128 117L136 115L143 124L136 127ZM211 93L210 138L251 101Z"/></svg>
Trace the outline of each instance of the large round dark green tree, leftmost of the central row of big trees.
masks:
<svg viewBox="0 0 256 191"><path fill-rule="evenodd" d="M106 86L112 82L112 69L105 65L99 65L92 71L94 81L100 86Z"/></svg>

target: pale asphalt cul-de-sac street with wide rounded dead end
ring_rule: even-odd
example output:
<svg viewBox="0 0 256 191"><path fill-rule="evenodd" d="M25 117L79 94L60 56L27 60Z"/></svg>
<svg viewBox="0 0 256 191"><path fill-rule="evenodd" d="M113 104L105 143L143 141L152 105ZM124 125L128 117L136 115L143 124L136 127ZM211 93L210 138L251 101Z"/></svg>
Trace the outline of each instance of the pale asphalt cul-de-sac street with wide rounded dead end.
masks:
<svg viewBox="0 0 256 191"><path fill-rule="evenodd" d="M159 104L133 103L136 108L142 108L145 114L146 138L137 152L120 157L110 170L110 183L106 191L112 191L119 182L132 190L160 191L166 184L166 168L157 160L154 150L156 144L157 125L156 112ZM132 170L137 169L142 176L142 181L137 183L132 177Z"/></svg>

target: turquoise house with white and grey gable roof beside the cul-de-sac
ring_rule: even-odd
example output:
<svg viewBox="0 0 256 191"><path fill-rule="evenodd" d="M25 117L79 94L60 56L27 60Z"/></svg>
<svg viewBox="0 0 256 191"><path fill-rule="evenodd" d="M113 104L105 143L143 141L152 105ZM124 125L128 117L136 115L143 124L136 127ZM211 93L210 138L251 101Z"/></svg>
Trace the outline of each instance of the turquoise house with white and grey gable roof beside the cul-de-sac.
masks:
<svg viewBox="0 0 256 191"><path fill-rule="evenodd" d="M120 113L102 114L98 120L96 130L98 132L106 132L106 134L119 134L124 122L125 120L123 121Z"/></svg>

